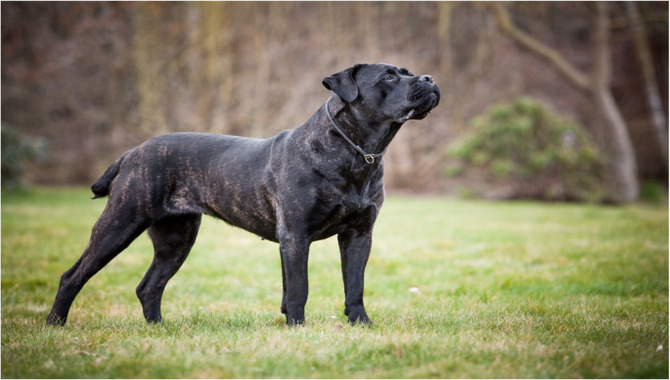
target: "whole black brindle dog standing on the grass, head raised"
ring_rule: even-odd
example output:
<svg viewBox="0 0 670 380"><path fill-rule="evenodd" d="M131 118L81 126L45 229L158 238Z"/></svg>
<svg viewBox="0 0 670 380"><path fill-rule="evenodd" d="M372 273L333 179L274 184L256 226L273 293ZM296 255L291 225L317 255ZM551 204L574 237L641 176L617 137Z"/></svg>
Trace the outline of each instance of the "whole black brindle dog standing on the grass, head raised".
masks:
<svg viewBox="0 0 670 380"><path fill-rule="evenodd" d="M154 259L137 287L144 316L161 320L165 285L195 242L202 214L279 243L282 313L305 319L307 258L337 235L344 313L370 324L363 277L384 200L383 154L404 122L423 119L440 91L429 75L356 65L323 80L333 91L304 124L259 140L174 133L119 157L91 189L109 196L81 258L60 280L48 324L64 324L86 281L148 230Z"/></svg>

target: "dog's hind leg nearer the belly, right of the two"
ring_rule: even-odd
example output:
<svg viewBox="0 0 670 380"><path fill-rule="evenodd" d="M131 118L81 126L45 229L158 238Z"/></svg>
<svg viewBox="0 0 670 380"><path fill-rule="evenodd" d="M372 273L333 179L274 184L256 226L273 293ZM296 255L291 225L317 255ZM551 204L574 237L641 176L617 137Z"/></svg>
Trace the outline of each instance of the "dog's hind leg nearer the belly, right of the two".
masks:
<svg viewBox="0 0 670 380"><path fill-rule="evenodd" d="M154 259L137 287L137 297L147 322L160 322L165 285L177 273L195 243L202 215L163 218L149 227Z"/></svg>

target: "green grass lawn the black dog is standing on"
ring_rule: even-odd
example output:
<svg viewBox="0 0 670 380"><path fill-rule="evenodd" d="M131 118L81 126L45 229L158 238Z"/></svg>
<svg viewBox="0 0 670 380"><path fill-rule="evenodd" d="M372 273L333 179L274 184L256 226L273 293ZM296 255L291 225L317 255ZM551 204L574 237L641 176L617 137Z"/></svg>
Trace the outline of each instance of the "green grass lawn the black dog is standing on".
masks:
<svg viewBox="0 0 670 380"><path fill-rule="evenodd" d="M390 198L349 326L334 239L312 245L305 326L279 312L278 247L205 218L147 325L140 237L47 328L104 200L2 196L2 377L667 378L667 205ZM418 291L410 292L410 288Z"/></svg>

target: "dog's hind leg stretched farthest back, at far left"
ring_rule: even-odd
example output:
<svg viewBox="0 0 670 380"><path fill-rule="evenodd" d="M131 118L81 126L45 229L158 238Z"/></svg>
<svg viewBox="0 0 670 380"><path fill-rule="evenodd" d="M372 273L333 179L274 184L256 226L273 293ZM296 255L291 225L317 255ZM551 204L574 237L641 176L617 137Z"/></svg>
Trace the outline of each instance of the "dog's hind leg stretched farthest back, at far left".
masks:
<svg viewBox="0 0 670 380"><path fill-rule="evenodd" d="M124 215L123 211L135 211L132 207L129 204L119 206L111 200L107 203L93 226L91 240L81 258L61 277L53 308L47 317L48 325L64 325L70 306L84 284L149 227L148 217L119 217Z"/></svg>

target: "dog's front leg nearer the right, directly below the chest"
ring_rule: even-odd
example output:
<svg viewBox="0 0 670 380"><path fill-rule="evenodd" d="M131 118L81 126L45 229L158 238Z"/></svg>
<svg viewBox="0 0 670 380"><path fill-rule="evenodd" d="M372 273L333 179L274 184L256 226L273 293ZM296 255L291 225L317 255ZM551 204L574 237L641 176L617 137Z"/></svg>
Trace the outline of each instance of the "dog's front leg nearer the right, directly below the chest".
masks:
<svg viewBox="0 0 670 380"><path fill-rule="evenodd" d="M349 323L372 325L363 305L363 277L372 247L371 230L347 230L337 236L344 279L344 314Z"/></svg>

